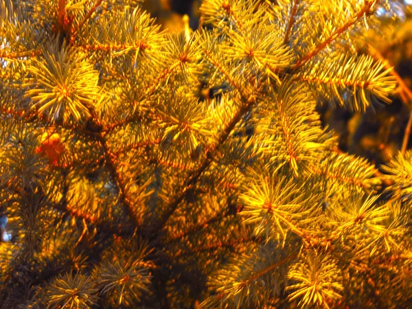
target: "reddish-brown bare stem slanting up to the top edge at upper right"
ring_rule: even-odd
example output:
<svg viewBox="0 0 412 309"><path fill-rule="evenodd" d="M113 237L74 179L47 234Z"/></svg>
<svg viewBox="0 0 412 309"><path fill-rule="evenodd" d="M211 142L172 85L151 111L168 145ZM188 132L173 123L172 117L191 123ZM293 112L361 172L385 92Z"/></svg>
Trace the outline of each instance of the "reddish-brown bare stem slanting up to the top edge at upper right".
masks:
<svg viewBox="0 0 412 309"><path fill-rule="evenodd" d="M362 8L362 10L360 10L359 12L354 14L354 16L351 16L347 23L345 23L342 27L340 27L340 28L336 29L334 32L332 32L332 34L328 38L325 38L325 40L323 42L319 43L316 47L314 47L314 49L312 49L312 51L310 51L308 54L306 54L306 56L303 56L302 58L300 58L296 62L296 64L293 66L293 69L299 69L302 65L304 65L306 62L308 62L310 59L312 59L317 54L319 54L319 52L321 52L322 49L327 47L338 36L340 36L341 34L343 34L343 32L345 32L347 29L349 29L349 27L354 25L354 23L356 23L356 21L358 21L366 13L368 13L369 10L371 10L371 8L376 4L376 2L377 2L377 0L365 1L365 6Z"/></svg>

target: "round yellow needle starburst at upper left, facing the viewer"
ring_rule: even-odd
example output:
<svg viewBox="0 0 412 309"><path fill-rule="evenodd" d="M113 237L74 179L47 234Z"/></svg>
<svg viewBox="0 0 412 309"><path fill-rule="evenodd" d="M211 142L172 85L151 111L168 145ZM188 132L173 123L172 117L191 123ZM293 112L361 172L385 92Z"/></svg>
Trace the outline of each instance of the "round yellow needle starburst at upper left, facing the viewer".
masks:
<svg viewBox="0 0 412 309"><path fill-rule="evenodd" d="M44 60L34 59L27 67L32 73L25 87L32 108L44 113L53 122L82 122L90 117L89 107L100 96L98 75L82 54L58 41L45 50Z"/></svg>

